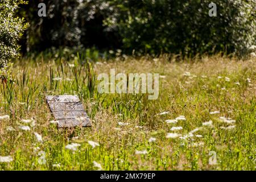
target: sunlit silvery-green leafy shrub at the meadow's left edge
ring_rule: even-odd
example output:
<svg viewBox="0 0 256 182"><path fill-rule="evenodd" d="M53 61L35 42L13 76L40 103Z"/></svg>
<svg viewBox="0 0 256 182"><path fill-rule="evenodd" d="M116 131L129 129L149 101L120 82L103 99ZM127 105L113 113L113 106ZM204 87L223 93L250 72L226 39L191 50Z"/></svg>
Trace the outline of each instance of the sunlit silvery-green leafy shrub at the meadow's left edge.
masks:
<svg viewBox="0 0 256 182"><path fill-rule="evenodd" d="M19 56L18 40L28 27L23 19L15 17L21 0L0 1L0 76L5 79L9 75L10 61Z"/></svg>

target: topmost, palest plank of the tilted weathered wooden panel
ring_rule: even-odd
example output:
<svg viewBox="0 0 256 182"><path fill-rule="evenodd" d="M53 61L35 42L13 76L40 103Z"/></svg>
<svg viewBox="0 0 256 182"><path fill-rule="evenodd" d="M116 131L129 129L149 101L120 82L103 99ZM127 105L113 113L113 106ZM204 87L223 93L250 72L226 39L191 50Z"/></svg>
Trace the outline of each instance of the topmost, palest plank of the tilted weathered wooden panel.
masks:
<svg viewBox="0 0 256 182"><path fill-rule="evenodd" d="M47 96L47 103L70 103L70 102L80 102L77 96Z"/></svg>

